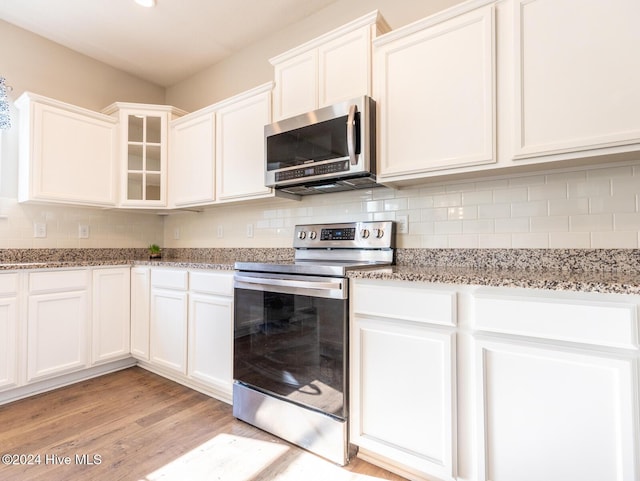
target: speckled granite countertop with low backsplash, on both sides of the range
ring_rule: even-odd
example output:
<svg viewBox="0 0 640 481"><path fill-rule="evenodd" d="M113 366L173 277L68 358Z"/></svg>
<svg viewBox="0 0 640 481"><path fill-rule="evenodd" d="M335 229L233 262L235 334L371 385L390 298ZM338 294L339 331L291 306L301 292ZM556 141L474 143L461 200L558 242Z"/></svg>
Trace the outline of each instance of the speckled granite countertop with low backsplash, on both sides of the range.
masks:
<svg viewBox="0 0 640 481"><path fill-rule="evenodd" d="M0 270L147 265L233 272L236 261L290 261L291 249L5 250ZM95 256L102 257L95 257ZM94 256L94 257L92 257ZM398 249L397 265L349 278L640 295L639 249Z"/></svg>

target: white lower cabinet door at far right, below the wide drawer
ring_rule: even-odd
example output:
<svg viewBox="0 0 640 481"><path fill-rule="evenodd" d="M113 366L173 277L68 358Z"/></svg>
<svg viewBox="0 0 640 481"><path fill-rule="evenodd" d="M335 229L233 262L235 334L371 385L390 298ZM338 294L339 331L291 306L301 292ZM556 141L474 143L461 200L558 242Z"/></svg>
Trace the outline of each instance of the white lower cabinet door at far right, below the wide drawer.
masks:
<svg viewBox="0 0 640 481"><path fill-rule="evenodd" d="M637 479L633 361L479 341L480 479Z"/></svg>

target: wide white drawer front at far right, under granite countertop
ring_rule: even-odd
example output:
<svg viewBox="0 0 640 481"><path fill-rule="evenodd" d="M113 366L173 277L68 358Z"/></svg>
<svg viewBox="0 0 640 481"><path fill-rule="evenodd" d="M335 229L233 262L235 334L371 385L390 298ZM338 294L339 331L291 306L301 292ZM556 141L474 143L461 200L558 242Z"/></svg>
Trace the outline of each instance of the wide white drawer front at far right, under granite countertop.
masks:
<svg viewBox="0 0 640 481"><path fill-rule="evenodd" d="M478 330L601 346L637 348L637 306L595 299L475 294Z"/></svg>

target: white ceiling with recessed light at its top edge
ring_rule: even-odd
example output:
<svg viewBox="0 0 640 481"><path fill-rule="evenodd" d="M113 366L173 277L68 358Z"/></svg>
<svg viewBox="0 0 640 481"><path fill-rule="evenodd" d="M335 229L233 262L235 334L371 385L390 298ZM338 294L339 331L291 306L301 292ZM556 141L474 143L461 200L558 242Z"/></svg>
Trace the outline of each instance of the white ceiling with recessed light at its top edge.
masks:
<svg viewBox="0 0 640 481"><path fill-rule="evenodd" d="M336 0L2 0L0 19L168 87Z"/></svg>

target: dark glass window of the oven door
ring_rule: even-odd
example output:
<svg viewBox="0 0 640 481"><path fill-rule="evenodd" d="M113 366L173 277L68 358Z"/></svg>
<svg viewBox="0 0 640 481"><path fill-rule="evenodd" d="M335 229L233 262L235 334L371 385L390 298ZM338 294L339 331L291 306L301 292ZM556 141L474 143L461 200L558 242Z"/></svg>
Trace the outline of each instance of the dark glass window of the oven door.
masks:
<svg viewBox="0 0 640 481"><path fill-rule="evenodd" d="M347 301L235 289L234 378L346 417Z"/></svg>

